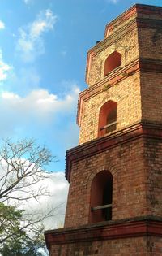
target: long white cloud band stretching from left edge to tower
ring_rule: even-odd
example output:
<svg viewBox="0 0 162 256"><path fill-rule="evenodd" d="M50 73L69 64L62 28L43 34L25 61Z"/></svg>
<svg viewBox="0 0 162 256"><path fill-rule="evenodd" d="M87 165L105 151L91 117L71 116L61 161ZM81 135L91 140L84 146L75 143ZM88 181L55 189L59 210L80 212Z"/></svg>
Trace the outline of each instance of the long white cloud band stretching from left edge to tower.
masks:
<svg viewBox="0 0 162 256"><path fill-rule="evenodd" d="M45 118L45 115L56 111L70 111L71 106L76 102L79 88L74 85L72 91L66 94L65 98L58 98L56 94L49 93L46 89L32 90L26 97L16 93L3 91L0 95L2 105L15 110L17 115L24 113L35 114Z"/></svg>

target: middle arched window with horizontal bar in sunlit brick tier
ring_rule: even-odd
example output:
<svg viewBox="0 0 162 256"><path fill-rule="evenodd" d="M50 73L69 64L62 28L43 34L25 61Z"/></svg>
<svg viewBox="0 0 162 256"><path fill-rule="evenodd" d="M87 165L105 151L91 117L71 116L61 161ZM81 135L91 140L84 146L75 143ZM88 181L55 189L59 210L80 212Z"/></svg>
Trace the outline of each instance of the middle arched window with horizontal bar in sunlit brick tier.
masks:
<svg viewBox="0 0 162 256"><path fill-rule="evenodd" d="M100 108L98 136L117 129L117 102L109 101Z"/></svg>

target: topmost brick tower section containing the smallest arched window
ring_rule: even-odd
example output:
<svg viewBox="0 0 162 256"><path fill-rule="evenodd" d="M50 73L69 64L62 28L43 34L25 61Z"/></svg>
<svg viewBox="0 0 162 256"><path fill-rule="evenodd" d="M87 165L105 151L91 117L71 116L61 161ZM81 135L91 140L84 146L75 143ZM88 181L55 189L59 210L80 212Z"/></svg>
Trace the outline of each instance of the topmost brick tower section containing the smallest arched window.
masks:
<svg viewBox="0 0 162 256"><path fill-rule="evenodd" d="M139 58L162 61L161 20L162 7L136 4L107 24L104 40L87 53L87 85L109 80ZM121 63L114 56L105 72L106 60L114 52L121 54Z"/></svg>

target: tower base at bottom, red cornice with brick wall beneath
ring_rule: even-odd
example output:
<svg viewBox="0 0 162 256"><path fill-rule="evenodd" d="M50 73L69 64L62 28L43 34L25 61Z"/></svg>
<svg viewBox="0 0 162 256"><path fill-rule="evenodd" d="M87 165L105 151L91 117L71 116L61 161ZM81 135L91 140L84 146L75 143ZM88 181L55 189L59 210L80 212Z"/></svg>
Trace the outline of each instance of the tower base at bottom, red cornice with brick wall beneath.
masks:
<svg viewBox="0 0 162 256"><path fill-rule="evenodd" d="M45 232L50 256L160 256L162 218L151 216Z"/></svg>

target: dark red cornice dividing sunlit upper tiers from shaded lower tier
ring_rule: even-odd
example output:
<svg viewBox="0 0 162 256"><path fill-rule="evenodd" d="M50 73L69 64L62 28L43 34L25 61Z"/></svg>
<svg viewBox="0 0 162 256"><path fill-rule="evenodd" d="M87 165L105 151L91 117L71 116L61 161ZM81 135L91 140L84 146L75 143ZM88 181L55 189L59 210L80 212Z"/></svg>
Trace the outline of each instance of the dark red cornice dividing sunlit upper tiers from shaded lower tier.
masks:
<svg viewBox="0 0 162 256"><path fill-rule="evenodd" d="M162 125L148 122L132 124L110 135L88 141L82 145L66 151L66 179L70 182L70 170L72 163L99 154L113 147L134 141L140 137L162 140Z"/></svg>

